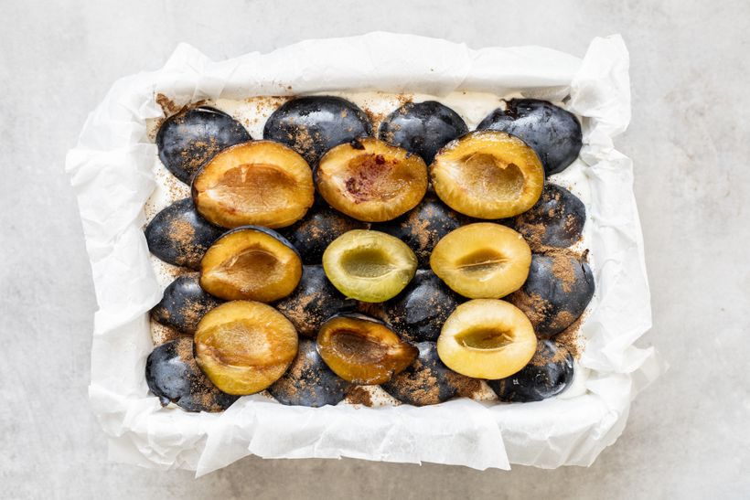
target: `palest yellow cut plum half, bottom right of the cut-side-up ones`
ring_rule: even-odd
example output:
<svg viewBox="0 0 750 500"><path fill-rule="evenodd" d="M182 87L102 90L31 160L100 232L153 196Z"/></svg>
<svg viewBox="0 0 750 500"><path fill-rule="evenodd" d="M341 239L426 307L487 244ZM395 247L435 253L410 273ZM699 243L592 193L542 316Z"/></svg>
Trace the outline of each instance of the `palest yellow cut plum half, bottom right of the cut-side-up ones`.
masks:
<svg viewBox="0 0 750 500"><path fill-rule="evenodd" d="M437 339L446 367L471 378L506 378L529 363L537 337L511 303L477 299L455 308Z"/></svg>

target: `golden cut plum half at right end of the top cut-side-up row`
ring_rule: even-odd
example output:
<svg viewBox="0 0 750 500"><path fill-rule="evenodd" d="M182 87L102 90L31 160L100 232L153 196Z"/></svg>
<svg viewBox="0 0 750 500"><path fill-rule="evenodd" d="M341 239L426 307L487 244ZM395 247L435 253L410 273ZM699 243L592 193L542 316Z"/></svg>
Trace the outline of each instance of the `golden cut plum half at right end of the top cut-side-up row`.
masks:
<svg viewBox="0 0 750 500"><path fill-rule="evenodd" d="M509 218L537 202L544 168L536 153L504 132L467 133L445 145L430 165L434 191L448 207L474 218Z"/></svg>

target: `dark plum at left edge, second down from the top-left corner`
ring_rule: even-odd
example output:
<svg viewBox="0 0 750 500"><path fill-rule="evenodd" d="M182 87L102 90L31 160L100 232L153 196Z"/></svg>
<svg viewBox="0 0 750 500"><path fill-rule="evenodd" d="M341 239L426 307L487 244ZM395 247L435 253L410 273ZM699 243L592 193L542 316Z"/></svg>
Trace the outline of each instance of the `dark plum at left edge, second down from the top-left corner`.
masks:
<svg viewBox="0 0 750 500"><path fill-rule="evenodd" d="M198 270L203 254L224 230L201 217L193 200L185 198L155 215L145 228L145 239L160 260Z"/></svg>

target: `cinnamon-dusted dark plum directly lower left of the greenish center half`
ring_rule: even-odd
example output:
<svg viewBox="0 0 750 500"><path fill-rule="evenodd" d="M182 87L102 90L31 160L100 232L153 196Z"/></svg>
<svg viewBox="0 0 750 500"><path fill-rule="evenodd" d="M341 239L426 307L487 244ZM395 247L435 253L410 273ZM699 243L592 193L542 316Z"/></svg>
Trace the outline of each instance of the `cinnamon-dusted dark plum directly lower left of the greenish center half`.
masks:
<svg viewBox="0 0 750 500"><path fill-rule="evenodd" d="M276 303L276 309L291 321L300 335L315 337L329 317L355 307L328 281L323 266L303 266L295 292Z"/></svg>

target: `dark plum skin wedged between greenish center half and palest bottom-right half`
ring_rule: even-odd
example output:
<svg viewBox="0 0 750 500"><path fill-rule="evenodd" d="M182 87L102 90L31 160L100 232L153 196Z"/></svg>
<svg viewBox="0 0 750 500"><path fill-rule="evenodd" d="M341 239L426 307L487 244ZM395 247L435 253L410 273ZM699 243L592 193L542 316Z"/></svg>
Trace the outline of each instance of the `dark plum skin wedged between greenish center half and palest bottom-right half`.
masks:
<svg viewBox="0 0 750 500"><path fill-rule="evenodd" d="M403 339L434 342L460 301L459 295L433 271L419 270L402 293L383 304L383 312Z"/></svg>

